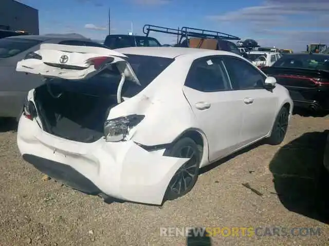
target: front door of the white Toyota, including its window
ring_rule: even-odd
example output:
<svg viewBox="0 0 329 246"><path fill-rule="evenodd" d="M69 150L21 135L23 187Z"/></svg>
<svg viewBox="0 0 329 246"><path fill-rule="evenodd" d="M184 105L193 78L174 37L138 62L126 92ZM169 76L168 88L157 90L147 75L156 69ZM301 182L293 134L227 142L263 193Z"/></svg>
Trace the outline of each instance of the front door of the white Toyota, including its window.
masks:
<svg viewBox="0 0 329 246"><path fill-rule="evenodd" d="M234 94L243 100L241 140L243 145L264 137L272 128L279 99L274 90L264 89L266 76L247 61L225 56Z"/></svg>

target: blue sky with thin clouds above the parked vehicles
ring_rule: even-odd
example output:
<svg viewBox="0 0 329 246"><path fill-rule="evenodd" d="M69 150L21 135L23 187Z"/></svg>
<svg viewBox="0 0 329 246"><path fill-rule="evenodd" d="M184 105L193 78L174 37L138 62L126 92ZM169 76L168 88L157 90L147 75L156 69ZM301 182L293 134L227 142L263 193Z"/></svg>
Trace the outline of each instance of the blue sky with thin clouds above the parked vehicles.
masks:
<svg viewBox="0 0 329 246"><path fill-rule="evenodd" d="M19 0L39 9L40 34L79 33L104 39L111 32L142 34L144 24L195 27L253 38L263 46L305 50L329 45L329 0ZM307 3L308 2L308 3ZM161 43L175 37L154 33Z"/></svg>

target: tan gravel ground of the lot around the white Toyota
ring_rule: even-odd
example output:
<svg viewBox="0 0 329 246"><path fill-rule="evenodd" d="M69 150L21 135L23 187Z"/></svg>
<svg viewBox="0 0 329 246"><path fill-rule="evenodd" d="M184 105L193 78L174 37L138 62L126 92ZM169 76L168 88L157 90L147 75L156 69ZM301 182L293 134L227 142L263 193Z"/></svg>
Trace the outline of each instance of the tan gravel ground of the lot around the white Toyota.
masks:
<svg viewBox="0 0 329 246"><path fill-rule="evenodd" d="M162 208L105 203L43 180L20 157L11 125L2 124L0 245L210 245L161 237L161 227L320 227L320 236L208 239L212 245L329 245L328 183L318 179L329 116L294 115L282 145L253 146L215 163L188 195Z"/></svg>

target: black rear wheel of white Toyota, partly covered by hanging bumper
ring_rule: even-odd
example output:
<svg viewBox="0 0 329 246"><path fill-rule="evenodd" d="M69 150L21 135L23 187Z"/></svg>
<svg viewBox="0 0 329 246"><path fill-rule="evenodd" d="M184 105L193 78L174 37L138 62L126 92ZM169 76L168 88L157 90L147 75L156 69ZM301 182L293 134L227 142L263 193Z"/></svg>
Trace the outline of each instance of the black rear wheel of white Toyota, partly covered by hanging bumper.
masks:
<svg viewBox="0 0 329 246"><path fill-rule="evenodd" d="M164 201L174 200L186 195L194 187L199 174L202 148L192 138L184 137L176 141L163 155L172 157L191 156L190 160L176 171L167 187Z"/></svg>

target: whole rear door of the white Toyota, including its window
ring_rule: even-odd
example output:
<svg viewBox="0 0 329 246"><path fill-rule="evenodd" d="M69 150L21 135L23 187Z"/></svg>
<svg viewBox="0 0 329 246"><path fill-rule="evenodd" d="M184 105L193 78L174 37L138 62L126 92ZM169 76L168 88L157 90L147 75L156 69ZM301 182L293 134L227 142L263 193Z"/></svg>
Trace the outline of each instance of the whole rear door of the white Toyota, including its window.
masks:
<svg viewBox="0 0 329 246"><path fill-rule="evenodd" d="M184 94L209 145L213 161L240 147L243 101L232 94L232 87L221 56L193 62L186 78Z"/></svg>

